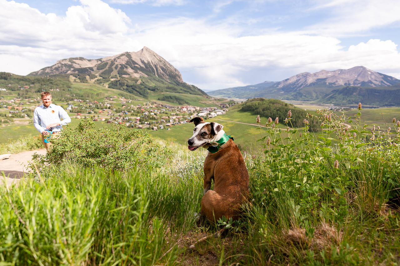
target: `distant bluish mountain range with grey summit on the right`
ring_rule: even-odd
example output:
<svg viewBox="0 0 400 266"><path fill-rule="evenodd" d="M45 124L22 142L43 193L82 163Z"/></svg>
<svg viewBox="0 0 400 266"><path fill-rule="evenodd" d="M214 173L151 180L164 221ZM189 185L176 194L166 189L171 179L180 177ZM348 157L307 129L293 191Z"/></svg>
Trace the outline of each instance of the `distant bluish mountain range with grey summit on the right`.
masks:
<svg viewBox="0 0 400 266"><path fill-rule="evenodd" d="M275 98L304 100L335 105L400 105L400 80L363 66L316 73L300 73L280 82L266 81L256 85L208 92L214 97Z"/></svg>

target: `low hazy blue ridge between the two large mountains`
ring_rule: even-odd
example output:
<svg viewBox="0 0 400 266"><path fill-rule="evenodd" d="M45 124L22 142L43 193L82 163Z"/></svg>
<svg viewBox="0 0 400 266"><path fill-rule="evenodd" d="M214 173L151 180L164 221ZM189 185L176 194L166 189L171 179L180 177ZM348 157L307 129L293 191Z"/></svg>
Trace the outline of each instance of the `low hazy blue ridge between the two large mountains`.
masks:
<svg viewBox="0 0 400 266"><path fill-rule="evenodd" d="M208 95L213 97L225 97L225 98L248 98L248 95L251 95L256 91L271 87L275 83L276 82L274 81L264 81L256 85L233 87L228 89L218 89L216 91L209 91Z"/></svg>

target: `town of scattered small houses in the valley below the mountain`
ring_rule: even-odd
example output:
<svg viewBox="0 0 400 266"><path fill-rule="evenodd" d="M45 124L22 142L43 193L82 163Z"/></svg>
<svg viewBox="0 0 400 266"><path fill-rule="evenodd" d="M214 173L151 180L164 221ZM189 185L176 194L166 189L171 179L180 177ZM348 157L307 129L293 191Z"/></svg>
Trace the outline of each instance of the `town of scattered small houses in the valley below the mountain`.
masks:
<svg viewBox="0 0 400 266"><path fill-rule="evenodd" d="M32 122L34 107L42 104L40 98L3 100L1 119L2 127ZM224 115L235 104L220 103L218 106L198 107L191 105L173 106L159 101L126 99L116 95L105 97L102 102L75 98L65 103L57 103L70 113L71 118L91 117L93 121L123 124L130 128L151 130L166 129L178 124L185 124L193 117L201 116L204 120ZM16 120L14 120L16 119Z"/></svg>

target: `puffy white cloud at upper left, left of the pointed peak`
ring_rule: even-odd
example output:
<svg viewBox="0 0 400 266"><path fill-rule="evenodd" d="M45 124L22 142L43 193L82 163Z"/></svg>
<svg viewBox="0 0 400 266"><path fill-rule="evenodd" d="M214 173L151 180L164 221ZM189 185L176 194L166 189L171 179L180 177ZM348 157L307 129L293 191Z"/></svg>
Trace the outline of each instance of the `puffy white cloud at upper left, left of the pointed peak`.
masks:
<svg viewBox="0 0 400 266"><path fill-rule="evenodd" d="M26 75L62 58L100 58L140 49L124 36L129 23L124 12L100 0L81 0L63 17L0 0L0 71Z"/></svg>

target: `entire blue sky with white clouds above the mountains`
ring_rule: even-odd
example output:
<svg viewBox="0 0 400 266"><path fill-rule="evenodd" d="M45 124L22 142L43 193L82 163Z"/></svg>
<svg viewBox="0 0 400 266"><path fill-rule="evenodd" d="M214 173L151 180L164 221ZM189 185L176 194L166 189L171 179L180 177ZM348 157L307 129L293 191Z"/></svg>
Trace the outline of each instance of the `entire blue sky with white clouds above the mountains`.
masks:
<svg viewBox="0 0 400 266"><path fill-rule="evenodd" d="M364 66L400 79L399 0L0 0L0 71L137 52L214 90Z"/></svg>

